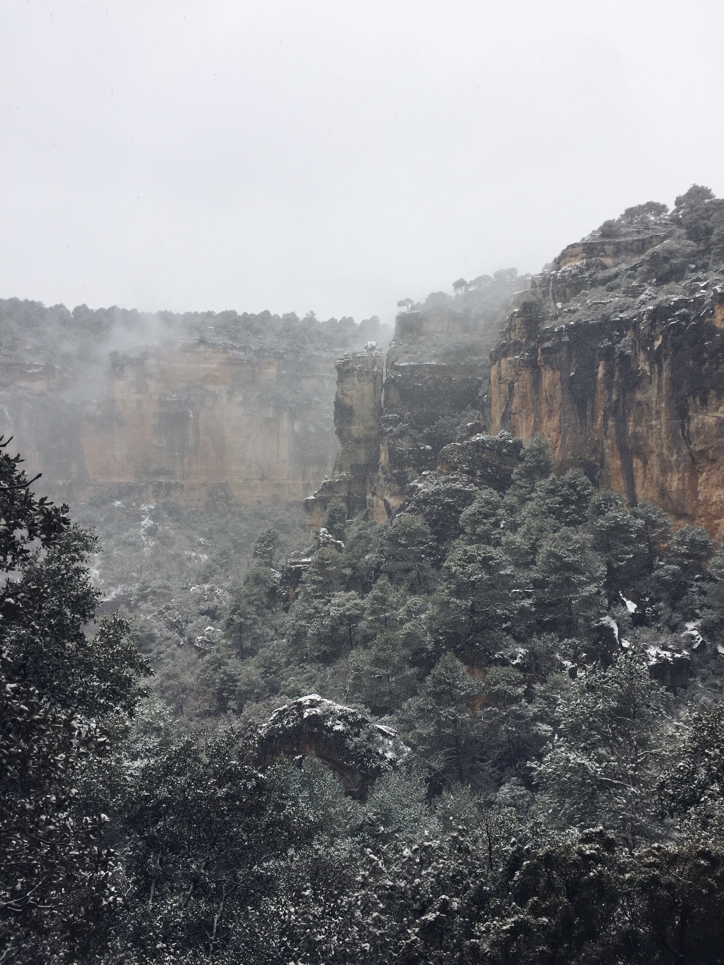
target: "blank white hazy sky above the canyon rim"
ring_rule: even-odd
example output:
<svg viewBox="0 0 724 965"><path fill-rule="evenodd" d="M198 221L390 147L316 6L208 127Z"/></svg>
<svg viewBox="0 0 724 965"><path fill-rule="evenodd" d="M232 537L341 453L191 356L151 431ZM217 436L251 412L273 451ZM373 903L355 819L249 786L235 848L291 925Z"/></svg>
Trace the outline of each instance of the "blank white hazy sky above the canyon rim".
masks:
<svg viewBox="0 0 724 965"><path fill-rule="evenodd" d="M724 4L0 2L0 296L379 315L724 194Z"/></svg>

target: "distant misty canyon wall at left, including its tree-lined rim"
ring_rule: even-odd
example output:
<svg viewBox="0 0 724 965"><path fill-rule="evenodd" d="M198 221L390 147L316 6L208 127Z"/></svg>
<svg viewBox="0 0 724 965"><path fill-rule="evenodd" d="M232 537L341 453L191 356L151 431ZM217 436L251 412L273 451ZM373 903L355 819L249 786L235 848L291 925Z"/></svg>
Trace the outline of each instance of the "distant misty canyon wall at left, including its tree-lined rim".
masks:
<svg viewBox="0 0 724 965"><path fill-rule="evenodd" d="M300 501L339 449L336 359L388 331L0 300L0 432L56 499Z"/></svg>

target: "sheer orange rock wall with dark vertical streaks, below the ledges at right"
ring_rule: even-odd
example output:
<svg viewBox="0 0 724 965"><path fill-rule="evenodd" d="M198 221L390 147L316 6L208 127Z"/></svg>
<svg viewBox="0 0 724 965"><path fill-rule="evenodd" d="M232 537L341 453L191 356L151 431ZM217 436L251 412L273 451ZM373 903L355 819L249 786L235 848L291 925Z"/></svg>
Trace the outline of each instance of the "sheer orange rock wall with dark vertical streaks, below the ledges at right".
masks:
<svg viewBox="0 0 724 965"><path fill-rule="evenodd" d="M514 312L493 352L489 430L542 432L557 471L649 499L679 525L724 538L724 338L721 292L684 315L659 305L619 319L539 328Z"/></svg>

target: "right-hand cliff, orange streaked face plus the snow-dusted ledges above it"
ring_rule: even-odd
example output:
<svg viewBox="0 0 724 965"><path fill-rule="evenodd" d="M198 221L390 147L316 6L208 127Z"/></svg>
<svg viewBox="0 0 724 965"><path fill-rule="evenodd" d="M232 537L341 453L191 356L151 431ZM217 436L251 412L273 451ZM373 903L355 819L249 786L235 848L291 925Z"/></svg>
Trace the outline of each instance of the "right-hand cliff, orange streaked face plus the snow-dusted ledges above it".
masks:
<svg viewBox="0 0 724 965"><path fill-rule="evenodd" d="M724 289L662 228L571 245L533 280L491 356L489 428L542 432L558 472L579 466L720 539ZM695 261L662 285L672 252Z"/></svg>

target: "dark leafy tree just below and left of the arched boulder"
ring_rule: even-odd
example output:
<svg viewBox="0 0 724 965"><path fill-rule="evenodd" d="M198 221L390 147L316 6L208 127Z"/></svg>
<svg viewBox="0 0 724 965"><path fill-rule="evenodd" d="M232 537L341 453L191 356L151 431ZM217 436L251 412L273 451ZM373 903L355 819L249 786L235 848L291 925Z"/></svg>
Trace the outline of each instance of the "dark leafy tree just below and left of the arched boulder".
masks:
<svg viewBox="0 0 724 965"><path fill-rule="evenodd" d="M172 960L212 955L258 905L269 859L314 830L316 815L285 801L244 753L231 731L187 738L135 777L122 815L132 855L123 940L141 955L159 945Z"/></svg>

